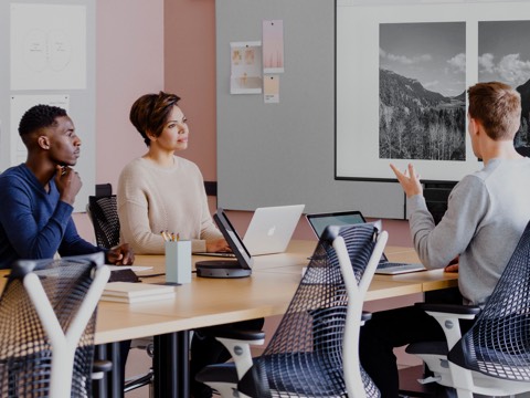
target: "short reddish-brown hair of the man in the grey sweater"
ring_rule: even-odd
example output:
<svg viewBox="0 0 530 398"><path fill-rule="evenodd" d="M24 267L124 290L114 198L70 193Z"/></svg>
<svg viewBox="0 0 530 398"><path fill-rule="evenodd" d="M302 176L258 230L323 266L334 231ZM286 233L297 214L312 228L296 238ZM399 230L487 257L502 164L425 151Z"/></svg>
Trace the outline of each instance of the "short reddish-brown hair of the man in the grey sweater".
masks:
<svg viewBox="0 0 530 398"><path fill-rule="evenodd" d="M500 82L477 83L467 90L469 116L494 140L513 139L521 124L521 95Z"/></svg>

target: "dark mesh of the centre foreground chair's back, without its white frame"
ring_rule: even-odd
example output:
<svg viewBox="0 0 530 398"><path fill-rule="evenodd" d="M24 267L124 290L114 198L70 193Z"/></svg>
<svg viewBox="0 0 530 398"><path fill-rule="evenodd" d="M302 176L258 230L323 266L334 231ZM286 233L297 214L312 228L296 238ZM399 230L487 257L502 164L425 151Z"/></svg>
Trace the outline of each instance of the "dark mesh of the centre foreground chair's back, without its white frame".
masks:
<svg viewBox="0 0 530 398"><path fill-rule="evenodd" d="M363 280L377 232L372 224L351 226L339 232L358 284ZM256 359L255 374L268 385L258 396L269 396L268 389L288 397L347 396L342 355L349 300L359 300L362 308L363 297L349 297L332 240L322 235L276 333ZM360 314L358 321L357 327ZM362 368L361 374L365 396L379 396ZM244 387L241 390L245 392ZM256 396L254 391L250 395Z"/></svg>

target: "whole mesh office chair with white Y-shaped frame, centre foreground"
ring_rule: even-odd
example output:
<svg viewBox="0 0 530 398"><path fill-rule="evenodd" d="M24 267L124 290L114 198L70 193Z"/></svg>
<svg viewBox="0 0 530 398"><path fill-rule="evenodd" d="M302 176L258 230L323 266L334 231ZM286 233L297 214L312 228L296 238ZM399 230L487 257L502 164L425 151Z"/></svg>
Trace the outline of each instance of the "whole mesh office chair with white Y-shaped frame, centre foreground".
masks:
<svg viewBox="0 0 530 398"><path fill-rule="evenodd" d="M328 228L264 354L253 360L248 347L263 344L263 333L224 331L218 338L235 365L208 366L197 379L222 397L378 397L358 348L363 298L386 238L373 224Z"/></svg>

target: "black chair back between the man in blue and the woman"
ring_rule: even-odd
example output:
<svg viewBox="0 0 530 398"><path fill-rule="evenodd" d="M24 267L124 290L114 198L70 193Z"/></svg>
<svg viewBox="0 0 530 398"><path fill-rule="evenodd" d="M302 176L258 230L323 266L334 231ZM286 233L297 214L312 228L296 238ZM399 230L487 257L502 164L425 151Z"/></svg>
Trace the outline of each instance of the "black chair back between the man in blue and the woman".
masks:
<svg viewBox="0 0 530 398"><path fill-rule="evenodd" d="M110 249L119 243L119 218L116 195L88 197L88 206L96 243Z"/></svg>

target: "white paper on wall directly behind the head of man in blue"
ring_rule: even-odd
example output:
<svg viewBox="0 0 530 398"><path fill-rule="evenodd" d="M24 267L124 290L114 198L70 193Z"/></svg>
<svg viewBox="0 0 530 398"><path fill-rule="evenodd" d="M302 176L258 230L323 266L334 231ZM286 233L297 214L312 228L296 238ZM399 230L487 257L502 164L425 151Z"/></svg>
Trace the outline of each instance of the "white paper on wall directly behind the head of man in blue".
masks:
<svg viewBox="0 0 530 398"><path fill-rule="evenodd" d="M43 104L57 106L70 111L70 95L12 95L11 96L11 129L9 139L11 142L10 165L24 163L28 157L28 149L19 135L19 123L24 113L32 106Z"/></svg>

